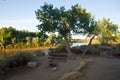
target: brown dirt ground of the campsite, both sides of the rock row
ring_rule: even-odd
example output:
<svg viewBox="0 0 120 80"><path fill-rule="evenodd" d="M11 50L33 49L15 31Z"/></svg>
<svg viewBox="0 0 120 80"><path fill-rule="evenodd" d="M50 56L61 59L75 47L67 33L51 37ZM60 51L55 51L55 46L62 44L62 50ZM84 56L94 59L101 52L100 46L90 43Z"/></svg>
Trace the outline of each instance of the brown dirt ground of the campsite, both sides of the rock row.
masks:
<svg viewBox="0 0 120 80"><path fill-rule="evenodd" d="M106 57L88 57L94 63L87 66L77 80L120 80L120 59ZM57 70L48 67L48 56L37 57L37 68L20 68L9 72L6 80L59 80L64 73L72 71L79 66L82 58L76 56L75 60L57 60ZM86 58L87 59L87 58Z"/></svg>

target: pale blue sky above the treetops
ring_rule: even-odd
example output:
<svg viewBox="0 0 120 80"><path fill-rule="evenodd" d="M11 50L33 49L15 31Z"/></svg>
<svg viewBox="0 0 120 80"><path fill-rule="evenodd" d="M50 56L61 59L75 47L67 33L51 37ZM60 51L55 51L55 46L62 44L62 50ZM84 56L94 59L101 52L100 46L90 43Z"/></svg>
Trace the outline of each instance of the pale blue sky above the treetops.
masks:
<svg viewBox="0 0 120 80"><path fill-rule="evenodd" d="M17 30L38 31L35 11L44 3L70 9L79 4L95 16L95 20L110 18L120 25L120 0L0 0L0 28L12 26Z"/></svg>

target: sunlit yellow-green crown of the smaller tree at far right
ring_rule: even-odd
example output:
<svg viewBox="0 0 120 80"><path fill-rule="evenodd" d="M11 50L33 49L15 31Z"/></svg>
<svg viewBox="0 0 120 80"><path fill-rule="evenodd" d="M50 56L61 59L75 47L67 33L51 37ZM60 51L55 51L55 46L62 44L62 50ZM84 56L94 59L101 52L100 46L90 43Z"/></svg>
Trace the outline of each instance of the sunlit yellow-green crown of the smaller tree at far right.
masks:
<svg viewBox="0 0 120 80"><path fill-rule="evenodd" d="M98 21L99 26L99 40L102 44L109 44L116 39L116 32L118 31L118 25L113 24L110 19L99 20Z"/></svg>

